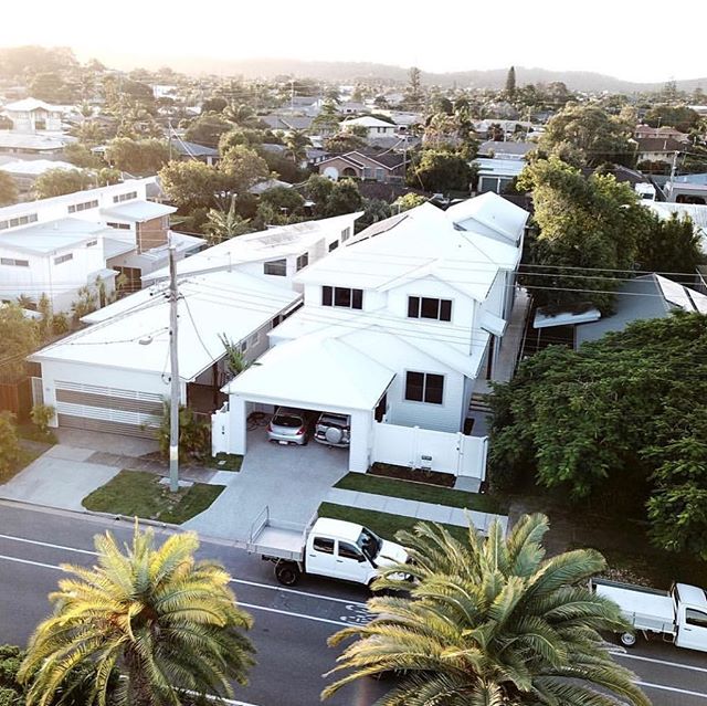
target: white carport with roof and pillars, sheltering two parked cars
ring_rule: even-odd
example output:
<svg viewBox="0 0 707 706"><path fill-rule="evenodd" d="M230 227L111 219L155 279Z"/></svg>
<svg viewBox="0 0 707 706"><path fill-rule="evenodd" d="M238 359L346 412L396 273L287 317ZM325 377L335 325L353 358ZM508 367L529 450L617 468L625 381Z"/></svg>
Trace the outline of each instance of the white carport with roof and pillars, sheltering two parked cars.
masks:
<svg viewBox="0 0 707 706"><path fill-rule="evenodd" d="M373 447L373 420L384 413L395 373L351 346L317 335L271 348L223 388L228 408L213 415L214 451L247 453L247 417L278 405L351 418L349 470L365 473Z"/></svg>

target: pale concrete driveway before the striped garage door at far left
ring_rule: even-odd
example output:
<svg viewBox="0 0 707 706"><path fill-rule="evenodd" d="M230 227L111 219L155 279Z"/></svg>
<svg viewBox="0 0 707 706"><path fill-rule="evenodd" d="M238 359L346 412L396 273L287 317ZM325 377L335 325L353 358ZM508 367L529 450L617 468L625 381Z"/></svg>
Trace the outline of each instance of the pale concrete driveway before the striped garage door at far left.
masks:
<svg viewBox="0 0 707 706"><path fill-rule="evenodd" d="M0 485L0 497L83 510L81 500L120 471L88 462L94 453L94 449L52 446L11 481Z"/></svg>

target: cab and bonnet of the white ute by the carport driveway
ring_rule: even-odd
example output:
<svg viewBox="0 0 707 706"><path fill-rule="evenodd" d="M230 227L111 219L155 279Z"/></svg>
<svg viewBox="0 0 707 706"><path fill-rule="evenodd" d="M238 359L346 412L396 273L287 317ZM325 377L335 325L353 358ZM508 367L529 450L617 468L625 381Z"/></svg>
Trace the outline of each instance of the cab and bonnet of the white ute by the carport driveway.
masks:
<svg viewBox="0 0 707 706"><path fill-rule="evenodd" d="M379 566L404 563L408 552L398 544L381 539L355 523L320 517L305 548L307 573L326 576L368 586Z"/></svg>

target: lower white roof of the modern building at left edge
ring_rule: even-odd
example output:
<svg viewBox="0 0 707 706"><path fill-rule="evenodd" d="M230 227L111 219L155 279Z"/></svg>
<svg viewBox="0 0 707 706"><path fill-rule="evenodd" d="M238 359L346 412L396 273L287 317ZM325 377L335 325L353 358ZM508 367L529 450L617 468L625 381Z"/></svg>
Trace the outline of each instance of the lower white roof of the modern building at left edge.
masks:
<svg viewBox="0 0 707 706"><path fill-rule="evenodd" d="M0 233L0 246L44 255L72 247L109 230L91 221L63 218Z"/></svg>

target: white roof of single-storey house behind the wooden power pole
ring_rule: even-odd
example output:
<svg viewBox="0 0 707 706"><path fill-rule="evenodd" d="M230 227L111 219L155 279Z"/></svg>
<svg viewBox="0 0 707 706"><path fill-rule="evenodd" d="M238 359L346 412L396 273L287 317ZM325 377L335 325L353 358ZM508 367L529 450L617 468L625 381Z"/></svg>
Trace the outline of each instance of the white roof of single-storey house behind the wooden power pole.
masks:
<svg viewBox="0 0 707 706"><path fill-rule="evenodd" d="M299 296L257 277L228 272L189 278L179 289L179 372L186 381L223 357L220 334L239 343ZM165 287L152 296L149 291L140 291L85 320L99 323L43 348L31 360L78 362L96 370L168 371L169 303Z"/></svg>

